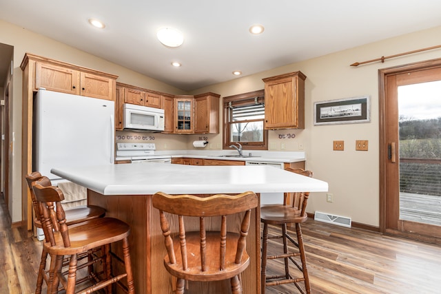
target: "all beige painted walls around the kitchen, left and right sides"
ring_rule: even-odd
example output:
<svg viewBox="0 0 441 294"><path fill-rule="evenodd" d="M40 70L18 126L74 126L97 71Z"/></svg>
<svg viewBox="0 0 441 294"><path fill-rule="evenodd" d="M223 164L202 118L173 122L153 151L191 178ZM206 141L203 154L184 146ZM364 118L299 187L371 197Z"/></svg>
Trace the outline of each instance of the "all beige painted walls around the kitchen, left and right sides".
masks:
<svg viewBox="0 0 441 294"><path fill-rule="evenodd" d="M86 54L38 34L33 34L9 23L0 21L0 42L14 45L14 132L16 143L14 154L21 154L21 70L19 64L25 52L39 54L52 59L91 67L120 76L118 81L130 83L152 90L170 94L183 94L182 91ZM307 169L314 176L329 182L329 193L334 194L334 202L326 202L326 193L313 193L308 211L323 211L340 216L351 217L354 222L378 226L379 219L379 163L378 163L378 69L424 61L441 57L440 50L389 59L385 63L371 63L350 67L356 61L375 59L439 45L441 27L413 34L398 36L359 48L336 52L300 63L278 67L252 76L198 89L193 94L215 92L230 96L243 92L263 89L262 78L300 70L306 80L306 128L304 130L280 130L269 132L270 146L280 151L282 143L287 151L298 151L299 145L307 154ZM354 96L371 96L371 123L351 125L314 126L313 105L317 101L327 101ZM221 120L220 120L221 121ZM279 139L279 134L296 134L294 139ZM203 135L205 136L205 135ZM158 149L192 149L192 140L199 135L158 134ZM207 135L208 149L220 149L222 135ZM345 140L345 151L332 151L333 140ZM369 151L355 151L355 140L369 140ZM14 160L14 195L19 195L19 156ZM17 159L18 158L18 159ZM18 198L19 199L19 198ZM20 220L14 213L12 220Z"/></svg>

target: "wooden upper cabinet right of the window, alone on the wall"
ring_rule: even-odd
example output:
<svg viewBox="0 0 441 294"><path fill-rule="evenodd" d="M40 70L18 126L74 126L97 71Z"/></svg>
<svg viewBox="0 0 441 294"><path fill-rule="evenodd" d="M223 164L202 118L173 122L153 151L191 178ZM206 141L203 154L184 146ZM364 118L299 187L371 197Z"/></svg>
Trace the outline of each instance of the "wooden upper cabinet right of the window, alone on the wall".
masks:
<svg viewBox="0 0 441 294"><path fill-rule="evenodd" d="M305 129L305 74L263 78L265 129Z"/></svg>

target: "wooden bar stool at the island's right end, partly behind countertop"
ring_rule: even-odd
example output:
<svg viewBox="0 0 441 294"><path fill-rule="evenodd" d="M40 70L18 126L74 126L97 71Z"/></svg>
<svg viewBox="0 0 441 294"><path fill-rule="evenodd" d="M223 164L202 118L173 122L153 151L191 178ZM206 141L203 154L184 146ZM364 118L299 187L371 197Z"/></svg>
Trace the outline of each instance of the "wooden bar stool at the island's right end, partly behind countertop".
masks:
<svg viewBox="0 0 441 294"><path fill-rule="evenodd" d="M292 171L302 176L312 176L311 171L303 169L287 168L287 171ZM288 204L289 197L293 195L291 204ZM309 198L309 192L302 193L285 193L283 204L269 204L260 207L260 221L263 222L263 237L262 237L262 293L265 294L265 286L276 286L280 284L294 283L300 293L311 293L311 286L309 284L309 276L306 264L305 247L303 246L302 229L300 223L307 220L306 207ZM297 240L291 238L287 233L287 224L296 224ZM281 235L268 235L268 224L280 226L282 230ZM282 239L283 253L278 255L267 255L268 239ZM289 251L288 240L298 248L298 251ZM300 262L296 257L300 256ZM283 275L267 276L267 260L275 260L283 258L285 262L285 273ZM294 277L289 272L289 261L291 261L296 269L300 270L301 277ZM300 287L299 282L305 283L305 290ZM305 292L306 291L306 292Z"/></svg>

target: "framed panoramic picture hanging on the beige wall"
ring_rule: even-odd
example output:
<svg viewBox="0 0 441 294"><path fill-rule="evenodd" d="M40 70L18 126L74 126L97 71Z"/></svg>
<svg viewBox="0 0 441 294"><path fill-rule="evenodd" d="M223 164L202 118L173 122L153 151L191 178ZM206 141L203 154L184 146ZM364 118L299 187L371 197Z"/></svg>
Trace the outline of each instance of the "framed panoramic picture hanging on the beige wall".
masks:
<svg viewBox="0 0 441 294"><path fill-rule="evenodd" d="M369 123L371 97L369 95L314 103L314 125Z"/></svg>

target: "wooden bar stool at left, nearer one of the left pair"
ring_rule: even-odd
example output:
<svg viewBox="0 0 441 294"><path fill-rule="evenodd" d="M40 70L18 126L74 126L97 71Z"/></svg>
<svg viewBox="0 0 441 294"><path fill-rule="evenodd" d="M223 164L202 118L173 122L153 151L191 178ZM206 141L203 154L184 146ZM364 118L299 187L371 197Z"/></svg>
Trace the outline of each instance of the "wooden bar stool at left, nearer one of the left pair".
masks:
<svg viewBox="0 0 441 294"><path fill-rule="evenodd" d="M116 283L125 292L134 294L128 241L129 225L115 218L94 218L68 227L65 211L61 205L64 199L63 192L58 187L48 186L48 181L47 178L41 178L34 182L32 187L40 211L41 225L47 238L43 243L45 253L42 254L41 265L45 264L43 257L47 257L48 254L51 257L48 275L41 266L39 269L39 278L43 276L47 280L48 293L57 293L60 282L65 293L76 293L76 271L80 269L78 256L101 248L101 255L91 255L92 260L88 260L85 266L93 266L100 262L103 264L103 271L94 273L90 280L93 284L87 284L86 288L77 293L92 293L101 288L105 288L107 293L112 293L112 284ZM122 242L125 272L114 276L110 244L119 241ZM70 256L67 279L66 273L62 272L65 255ZM115 260L119 261L118 258ZM126 286L121 283L123 278L127 280Z"/></svg>

